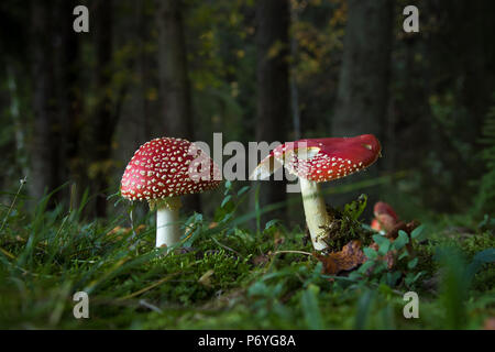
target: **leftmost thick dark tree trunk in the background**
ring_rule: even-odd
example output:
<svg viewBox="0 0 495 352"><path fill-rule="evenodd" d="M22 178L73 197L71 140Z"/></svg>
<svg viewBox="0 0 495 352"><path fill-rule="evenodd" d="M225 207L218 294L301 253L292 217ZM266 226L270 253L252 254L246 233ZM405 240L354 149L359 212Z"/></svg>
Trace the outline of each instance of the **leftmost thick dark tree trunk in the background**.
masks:
<svg viewBox="0 0 495 352"><path fill-rule="evenodd" d="M58 132L54 87L52 6L32 2L32 75L33 75L33 136L31 148L31 196L40 199L44 190L59 186ZM52 199L56 199L55 195Z"/></svg>

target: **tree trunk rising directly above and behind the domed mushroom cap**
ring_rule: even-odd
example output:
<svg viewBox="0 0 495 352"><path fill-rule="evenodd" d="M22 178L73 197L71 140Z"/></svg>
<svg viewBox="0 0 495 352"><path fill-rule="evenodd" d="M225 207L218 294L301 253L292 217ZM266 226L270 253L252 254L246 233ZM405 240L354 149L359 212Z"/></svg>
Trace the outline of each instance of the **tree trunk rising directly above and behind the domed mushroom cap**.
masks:
<svg viewBox="0 0 495 352"><path fill-rule="evenodd" d="M187 52L180 0L157 1L160 96L163 124L156 136L185 138L195 141ZM184 198L185 208L200 210L198 195Z"/></svg>

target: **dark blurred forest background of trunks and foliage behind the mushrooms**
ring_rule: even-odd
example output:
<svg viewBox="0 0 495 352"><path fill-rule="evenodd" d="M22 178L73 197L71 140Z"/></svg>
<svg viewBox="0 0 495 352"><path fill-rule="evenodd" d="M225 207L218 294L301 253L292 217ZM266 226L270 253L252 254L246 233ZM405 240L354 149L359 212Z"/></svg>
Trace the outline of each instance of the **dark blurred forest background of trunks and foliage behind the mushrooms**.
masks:
<svg viewBox="0 0 495 352"><path fill-rule="evenodd" d="M73 31L77 4L89 33ZM408 4L419 33L403 31ZM384 157L361 177L399 176L338 202L365 191L403 213L481 218L495 209L494 13L482 0L1 1L0 200L28 176L26 204L66 185L52 206L88 190L87 216L103 218L153 138L375 133ZM256 184L262 205L292 197Z"/></svg>

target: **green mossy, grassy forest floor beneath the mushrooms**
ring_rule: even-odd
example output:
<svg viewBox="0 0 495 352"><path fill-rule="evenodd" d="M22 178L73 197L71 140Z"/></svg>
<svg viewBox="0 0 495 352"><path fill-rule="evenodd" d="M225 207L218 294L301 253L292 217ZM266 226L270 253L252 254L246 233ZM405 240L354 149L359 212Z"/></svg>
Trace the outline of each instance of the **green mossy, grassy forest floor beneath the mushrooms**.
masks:
<svg viewBox="0 0 495 352"><path fill-rule="evenodd" d="M69 213L46 211L45 198L26 215L18 199L0 213L0 328L493 327L495 219L422 221L410 237L414 254L398 241L380 243L378 256L402 253L393 268L363 264L336 276L322 272L300 229L276 221L243 229L248 218L235 204L244 191L226 189L215 222L187 219L187 240L168 254L154 249L152 216L129 229L125 213L86 222L84 202ZM73 315L76 292L89 296L88 319ZM418 294L418 319L404 317L407 292Z"/></svg>

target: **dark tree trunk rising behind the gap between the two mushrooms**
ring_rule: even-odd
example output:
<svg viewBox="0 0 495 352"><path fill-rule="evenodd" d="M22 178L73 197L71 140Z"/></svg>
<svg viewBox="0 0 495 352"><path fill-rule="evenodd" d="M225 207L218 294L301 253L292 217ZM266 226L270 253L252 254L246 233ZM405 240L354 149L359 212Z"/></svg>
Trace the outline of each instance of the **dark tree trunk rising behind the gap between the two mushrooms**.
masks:
<svg viewBox="0 0 495 352"><path fill-rule="evenodd" d="M290 10L287 0L258 0L256 4L256 141L285 142L290 125L288 38ZM263 157L263 156L262 156ZM284 201L284 180L260 182L260 206ZM284 218L284 213L270 218ZM265 220L265 219L264 219Z"/></svg>

